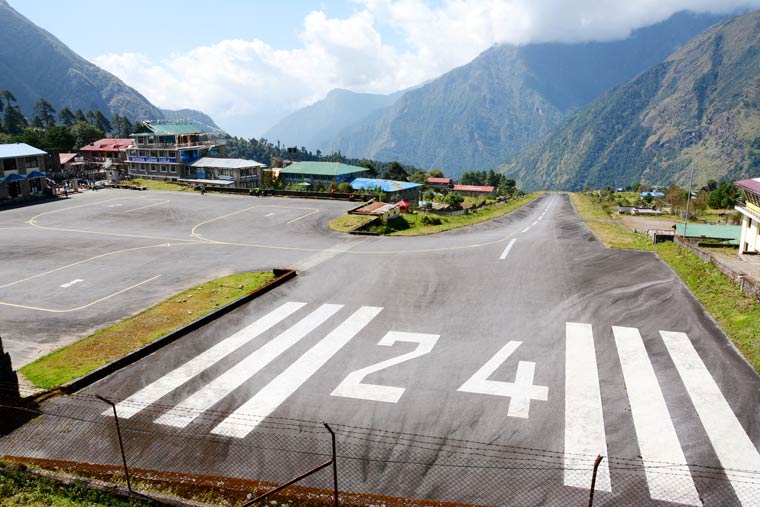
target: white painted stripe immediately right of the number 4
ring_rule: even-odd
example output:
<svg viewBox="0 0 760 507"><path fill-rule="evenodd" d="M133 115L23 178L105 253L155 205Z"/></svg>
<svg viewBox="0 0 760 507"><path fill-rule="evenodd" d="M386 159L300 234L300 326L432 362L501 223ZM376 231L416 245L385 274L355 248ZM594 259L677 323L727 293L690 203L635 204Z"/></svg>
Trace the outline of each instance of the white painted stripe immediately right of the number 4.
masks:
<svg viewBox="0 0 760 507"><path fill-rule="evenodd" d="M602 394L591 324L565 325L565 486L589 489L594 459L607 456ZM610 468L599 465L595 489L612 491Z"/></svg>

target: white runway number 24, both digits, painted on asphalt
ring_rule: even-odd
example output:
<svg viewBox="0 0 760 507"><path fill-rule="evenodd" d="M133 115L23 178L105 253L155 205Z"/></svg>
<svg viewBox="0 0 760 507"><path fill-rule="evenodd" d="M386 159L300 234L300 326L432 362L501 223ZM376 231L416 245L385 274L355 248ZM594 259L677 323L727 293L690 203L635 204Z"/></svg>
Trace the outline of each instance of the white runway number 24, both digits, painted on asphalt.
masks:
<svg viewBox="0 0 760 507"><path fill-rule="evenodd" d="M331 394L344 398L398 403L406 388L370 384L362 381L367 375L428 354L433 350L438 338L439 335L436 334L388 332L378 342L378 345L392 347L396 342L408 342L416 343L417 347L406 354L386 359L385 361L349 373ZM486 364L476 371L472 377L462 384L457 391L508 397L510 398L510 403L507 415L510 417L528 418L531 400L546 401L549 395L548 387L533 385L533 374L536 369L536 363L532 361L520 361L517 365L514 382L488 380L488 377L499 366L504 364L507 358L521 344L522 342L517 341L508 342Z"/></svg>

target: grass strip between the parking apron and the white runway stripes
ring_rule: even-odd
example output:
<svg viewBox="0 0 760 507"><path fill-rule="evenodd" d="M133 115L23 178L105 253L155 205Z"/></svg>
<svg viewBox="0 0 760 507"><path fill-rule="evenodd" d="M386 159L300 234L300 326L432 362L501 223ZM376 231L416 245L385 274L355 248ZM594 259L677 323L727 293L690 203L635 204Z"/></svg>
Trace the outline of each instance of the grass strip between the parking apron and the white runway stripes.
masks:
<svg viewBox="0 0 760 507"><path fill-rule="evenodd" d="M41 357L19 371L37 387L59 387L235 301L273 279L271 272L251 272L206 282Z"/></svg>

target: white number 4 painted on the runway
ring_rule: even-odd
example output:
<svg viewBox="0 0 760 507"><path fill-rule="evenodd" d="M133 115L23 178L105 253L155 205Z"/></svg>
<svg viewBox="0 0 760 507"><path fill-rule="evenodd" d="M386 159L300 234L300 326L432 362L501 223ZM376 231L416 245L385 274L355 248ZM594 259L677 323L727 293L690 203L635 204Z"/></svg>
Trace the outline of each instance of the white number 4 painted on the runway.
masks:
<svg viewBox="0 0 760 507"><path fill-rule="evenodd" d="M495 396L507 396L511 398L507 415L509 417L528 418L531 400L546 401L549 396L549 388L533 385L533 374L536 363L532 361L520 361L517 364L517 374L514 382L501 382L488 380L493 372L501 366L522 342L510 341L499 350L496 355L488 360L475 375L457 391L477 394L491 394Z"/></svg>

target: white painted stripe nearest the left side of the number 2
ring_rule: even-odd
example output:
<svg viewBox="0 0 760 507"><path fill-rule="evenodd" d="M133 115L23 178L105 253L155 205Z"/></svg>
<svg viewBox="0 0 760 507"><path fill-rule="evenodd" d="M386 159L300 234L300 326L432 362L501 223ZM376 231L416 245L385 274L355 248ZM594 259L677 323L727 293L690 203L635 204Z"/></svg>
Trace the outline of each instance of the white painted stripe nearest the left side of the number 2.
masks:
<svg viewBox="0 0 760 507"><path fill-rule="evenodd" d="M383 309L362 306L346 321L275 377L253 398L219 423L211 433L243 438L253 431Z"/></svg>

